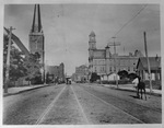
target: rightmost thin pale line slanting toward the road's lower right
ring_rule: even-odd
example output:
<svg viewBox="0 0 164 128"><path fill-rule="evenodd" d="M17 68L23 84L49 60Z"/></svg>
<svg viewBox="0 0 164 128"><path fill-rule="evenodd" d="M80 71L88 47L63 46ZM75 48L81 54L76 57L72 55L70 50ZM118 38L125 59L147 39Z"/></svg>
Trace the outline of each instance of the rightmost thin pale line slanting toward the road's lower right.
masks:
<svg viewBox="0 0 164 128"><path fill-rule="evenodd" d="M85 91L85 90L84 90L84 91ZM127 112L125 112L125 110L122 110L122 109L120 109L120 108L118 108L118 107L114 106L113 104L109 104L109 103L105 102L104 100L102 100L102 98L99 98L99 97L95 96L94 94L91 94L91 93L90 93L90 92L87 92L87 91L85 91L85 92L86 92L86 93L89 93L90 95L94 96L95 98L97 98L97 100L102 101L104 104L106 104L106 105L110 105L110 106L113 106L113 107L115 107L115 108L117 108L117 109L121 110L121 112L122 112L122 113L125 113L126 115L128 115L128 116L130 116L130 117L134 118L136 120L138 120L138 121L140 121L140 123L142 123L142 124L145 124L145 123L143 123L142 120L138 119L137 117L134 117L134 116L132 116L132 115L128 114Z"/></svg>

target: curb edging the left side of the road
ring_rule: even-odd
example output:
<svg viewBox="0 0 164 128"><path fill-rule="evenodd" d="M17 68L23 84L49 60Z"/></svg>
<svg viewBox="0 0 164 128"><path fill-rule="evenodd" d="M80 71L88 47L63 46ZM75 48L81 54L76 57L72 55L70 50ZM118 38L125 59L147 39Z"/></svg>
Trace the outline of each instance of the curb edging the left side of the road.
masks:
<svg viewBox="0 0 164 128"><path fill-rule="evenodd" d="M26 89L26 90L22 90L22 91L19 91L19 92L16 92L16 93L3 94L3 97L11 96L11 95L16 95L16 94L20 94L20 93L24 93L24 92L27 92L27 91L37 90L37 89L46 88L46 86L50 86L50 84L48 84L48 85L42 85L42 86L35 86L35 88Z"/></svg>

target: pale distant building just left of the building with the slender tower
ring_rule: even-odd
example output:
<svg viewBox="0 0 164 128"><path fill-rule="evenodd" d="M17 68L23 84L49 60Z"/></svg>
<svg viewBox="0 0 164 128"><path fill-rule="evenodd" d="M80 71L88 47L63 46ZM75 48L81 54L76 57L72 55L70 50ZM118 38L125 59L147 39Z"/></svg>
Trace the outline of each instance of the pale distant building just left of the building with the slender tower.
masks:
<svg viewBox="0 0 164 128"><path fill-rule="evenodd" d="M72 74L75 82L86 82L89 80L89 68L85 65L75 67L75 73Z"/></svg>

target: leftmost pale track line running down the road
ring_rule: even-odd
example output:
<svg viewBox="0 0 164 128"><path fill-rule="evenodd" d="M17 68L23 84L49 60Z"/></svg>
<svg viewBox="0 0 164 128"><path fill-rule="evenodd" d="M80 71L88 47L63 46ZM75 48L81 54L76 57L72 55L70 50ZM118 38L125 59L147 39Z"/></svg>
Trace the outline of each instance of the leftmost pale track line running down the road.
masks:
<svg viewBox="0 0 164 128"><path fill-rule="evenodd" d="M63 90L66 89L66 86L60 91L60 93L54 98L54 101L48 105L48 107L44 110L44 113L40 115L40 117L37 119L37 121L35 123L35 125L39 125L46 117L46 115L49 113L49 110L52 108L54 104L56 103L56 101L59 98L59 96L61 95L61 93L63 92Z"/></svg>

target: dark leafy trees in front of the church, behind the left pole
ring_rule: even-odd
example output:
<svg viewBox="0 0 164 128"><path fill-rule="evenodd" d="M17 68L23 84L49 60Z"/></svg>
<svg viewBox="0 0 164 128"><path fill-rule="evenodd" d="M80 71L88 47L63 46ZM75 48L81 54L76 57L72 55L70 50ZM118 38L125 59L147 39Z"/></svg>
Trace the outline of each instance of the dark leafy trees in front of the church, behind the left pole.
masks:
<svg viewBox="0 0 164 128"><path fill-rule="evenodd" d="M3 80L5 80L8 43L8 35L3 35ZM28 81L35 81L35 83L39 83L42 81L42 66L39 63L39 58L40 55L38 53L31 54L30 57L24 57L23 53L20 51L20 49L17 49L12 42L9 71L10 83L15 82L22 77L25 77Z"/></svg>

